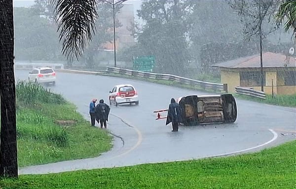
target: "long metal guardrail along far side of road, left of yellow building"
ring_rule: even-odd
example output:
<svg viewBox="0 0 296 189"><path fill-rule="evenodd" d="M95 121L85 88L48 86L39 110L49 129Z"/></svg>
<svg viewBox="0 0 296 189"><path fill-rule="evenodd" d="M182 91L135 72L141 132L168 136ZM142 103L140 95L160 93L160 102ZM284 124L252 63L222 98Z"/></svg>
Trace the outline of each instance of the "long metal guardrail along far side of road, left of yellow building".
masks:
<svg viewBox="0 0 296 189"><path fill-rule="evenodd" d="M204 81L198 81L194 79L188 79L185 77L180 77L171 74L161 74L161 73L152 73L152 72L144 72L144 71L136 71L131 69L122 69L118 67L107 67L107 72L111 73L118 73L122 75L131 75L149 79L157 79L157 80L167 80L167 81L176 81L181 84L187 84L191 86L198 86L205 90L214 90L219 92L228 92L227 84L220 84L220 83L210 83Z"/></svg>

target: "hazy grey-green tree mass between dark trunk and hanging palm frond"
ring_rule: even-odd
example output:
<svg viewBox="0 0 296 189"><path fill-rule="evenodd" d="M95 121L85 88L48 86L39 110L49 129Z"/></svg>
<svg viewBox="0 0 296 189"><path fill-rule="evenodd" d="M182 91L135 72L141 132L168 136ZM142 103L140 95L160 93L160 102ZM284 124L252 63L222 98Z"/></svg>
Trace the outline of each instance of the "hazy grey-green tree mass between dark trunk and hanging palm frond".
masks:
<svg viewBox="0 0 296 189"><path fill-rule="evenodd" d="M35 8L14 8L16 60L63 60L55 24L39 15Z"/></svg>

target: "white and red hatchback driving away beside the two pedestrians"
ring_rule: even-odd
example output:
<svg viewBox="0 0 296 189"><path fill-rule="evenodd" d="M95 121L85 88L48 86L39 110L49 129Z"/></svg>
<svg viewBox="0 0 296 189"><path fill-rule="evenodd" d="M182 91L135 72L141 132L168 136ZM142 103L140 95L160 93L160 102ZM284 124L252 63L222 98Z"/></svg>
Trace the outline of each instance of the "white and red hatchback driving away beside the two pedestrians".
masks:
<svg viewBox="0 0 296 189"><path fill-rule="evenodd" d="M132 104L139 105L138 93L132 85L116 85L112 91L109 92L109 103L117 106L118 104Z"/></svg>

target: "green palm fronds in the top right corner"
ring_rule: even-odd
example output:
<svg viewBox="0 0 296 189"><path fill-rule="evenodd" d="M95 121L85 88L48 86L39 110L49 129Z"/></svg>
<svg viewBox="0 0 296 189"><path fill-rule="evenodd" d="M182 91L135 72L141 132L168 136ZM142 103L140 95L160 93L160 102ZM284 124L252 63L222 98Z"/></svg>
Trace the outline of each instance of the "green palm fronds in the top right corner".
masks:
<svg viewBox="0 0 296 189"><path fill-rule="evenodd" d="M276 18L279 25L285 22L284 28L286 32L293 29L296 39L296 0L282 0Z"/></svg>

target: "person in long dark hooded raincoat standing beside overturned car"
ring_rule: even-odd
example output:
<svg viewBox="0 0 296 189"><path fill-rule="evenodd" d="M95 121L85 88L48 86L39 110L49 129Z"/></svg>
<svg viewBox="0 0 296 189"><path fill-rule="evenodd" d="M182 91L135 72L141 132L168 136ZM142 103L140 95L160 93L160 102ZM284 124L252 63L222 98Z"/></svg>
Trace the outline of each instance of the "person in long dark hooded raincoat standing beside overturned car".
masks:
<svg viewBox="0 0 296 189"><path fill-rule="evenodd" d="M171 99L171 103L168 109L168 115L166 120L166 125L172 122L173 130L176 132L179 130L179 123L182 123L182 110L178 103L176 103L175 98Z"/></svg>

